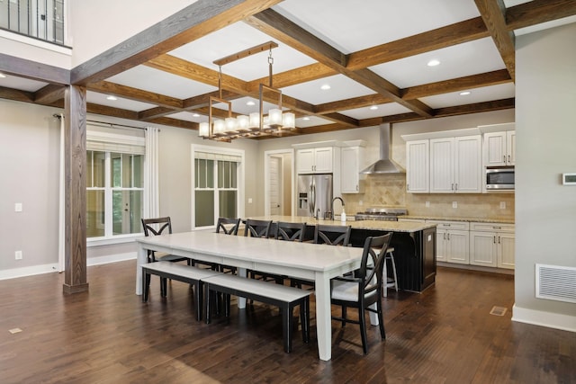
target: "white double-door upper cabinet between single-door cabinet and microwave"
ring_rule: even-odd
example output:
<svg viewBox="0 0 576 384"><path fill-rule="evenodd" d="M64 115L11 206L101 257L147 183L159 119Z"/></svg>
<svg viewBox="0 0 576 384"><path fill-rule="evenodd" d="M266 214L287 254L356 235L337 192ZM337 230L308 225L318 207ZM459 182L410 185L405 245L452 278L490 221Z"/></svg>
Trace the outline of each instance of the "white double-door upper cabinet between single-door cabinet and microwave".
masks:
<svg viewBox="0 0 576 384"><path fill-rule="evenodd" d="M430 139L430 192L482 192L481 135Z"/></svg>

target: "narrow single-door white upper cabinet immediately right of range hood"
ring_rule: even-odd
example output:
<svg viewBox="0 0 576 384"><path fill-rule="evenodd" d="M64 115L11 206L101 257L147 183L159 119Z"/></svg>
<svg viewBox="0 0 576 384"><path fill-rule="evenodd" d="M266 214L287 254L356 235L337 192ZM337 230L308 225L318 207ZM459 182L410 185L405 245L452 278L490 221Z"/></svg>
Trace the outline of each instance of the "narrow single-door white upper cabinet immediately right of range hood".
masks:
<svg viewBox="0 0 576 384"><path fill-rule="evenodd" d="M410 193L428 193L430 174L430 141L406 142L406 190Z"/></svg>

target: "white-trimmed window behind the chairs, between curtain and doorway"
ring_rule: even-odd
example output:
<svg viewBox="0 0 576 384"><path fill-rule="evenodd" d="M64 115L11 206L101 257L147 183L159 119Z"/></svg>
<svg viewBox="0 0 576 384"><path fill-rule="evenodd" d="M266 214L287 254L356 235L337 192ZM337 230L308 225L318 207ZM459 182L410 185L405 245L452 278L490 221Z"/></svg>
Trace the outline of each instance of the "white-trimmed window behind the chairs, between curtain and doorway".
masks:
<svg viewBox="0 0 576 384"><path fill-rule="evenodd" d="M238 156L240 155L240 156ZM238 218L243 152L193 152L193 227L213 227L219 217Z"/></svg>

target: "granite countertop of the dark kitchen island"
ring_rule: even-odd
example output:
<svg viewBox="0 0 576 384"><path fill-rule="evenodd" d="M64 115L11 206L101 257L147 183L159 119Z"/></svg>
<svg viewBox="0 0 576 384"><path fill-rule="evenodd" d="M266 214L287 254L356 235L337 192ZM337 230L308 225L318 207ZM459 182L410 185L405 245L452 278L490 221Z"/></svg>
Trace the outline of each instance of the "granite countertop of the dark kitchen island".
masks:
<svg viewBox="0 0 576 384"><path fill-rule="evenodd" d="M401 221L383 221L383 220L327 220L327 219L314 219L302 216L258 216L248 219L258 219L258 220L273 220L273 221L287 221L293 223L307 223L311 226L316 224L328 224L333 226L339 226L345 224L347 226L352 226L355 229L374 229L383 230L391 232L419 232L424 229L434 228L436 224L433 223L413 223L413 222L401 222Z"/></svg>

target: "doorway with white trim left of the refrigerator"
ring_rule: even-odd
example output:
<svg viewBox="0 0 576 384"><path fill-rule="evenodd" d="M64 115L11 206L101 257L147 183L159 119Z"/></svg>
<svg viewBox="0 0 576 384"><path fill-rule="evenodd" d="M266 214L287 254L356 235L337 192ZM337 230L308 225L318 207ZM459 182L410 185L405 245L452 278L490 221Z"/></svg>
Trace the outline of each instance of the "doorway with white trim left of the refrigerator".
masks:
<svg viewBox="0 0 576 384"><path fill-rule="evenodd" d="M293 150L281 149L264 153L264 214L292 216Z"/></svg>

